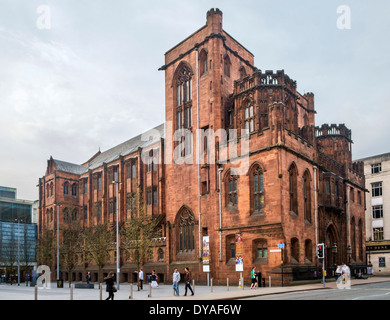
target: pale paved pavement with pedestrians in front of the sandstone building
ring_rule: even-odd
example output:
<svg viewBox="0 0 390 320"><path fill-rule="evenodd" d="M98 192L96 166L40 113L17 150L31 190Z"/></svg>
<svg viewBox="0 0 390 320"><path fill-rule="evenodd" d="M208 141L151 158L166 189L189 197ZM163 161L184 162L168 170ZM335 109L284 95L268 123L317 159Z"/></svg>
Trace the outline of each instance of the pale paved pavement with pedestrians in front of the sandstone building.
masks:
<svg viewBox="0 0 390 320"><path fill-rule="evenodd" d="M351 286L364 285L374 282L388 282L390 277L371 276L368 279L351 279ZM227 286L205 286L195 285L195 295L187 296L184 294L184 284L179 286L180 296L173 295L172 285L160 284L158 289L151 289L149 292L149 285L144 285L144 289L137 291L135 285L120 284L118 292L115 293L115 300L159 300L159 301L188 301L188 300L236 300L255 296L263 296L270 294L280 294L289 292L299 292L308 290L323 290L335 289L337 283L330 281L325 284L311 283L302 285L291 285L284 287L261 287L257 289L250 289L249 286L238 288L237 285ZM132 298L130 295L132 292ZM150 296L151 295L151 296ZM0 300L104 300L108 296L105 291L105 285L100 290L99 285L95 284L94 289L69 288L68 283L64 283L64 288L57 288L56 283L50 283L47 288L37 288L26 286L21 283L17 284L0 284Z"/></svg>

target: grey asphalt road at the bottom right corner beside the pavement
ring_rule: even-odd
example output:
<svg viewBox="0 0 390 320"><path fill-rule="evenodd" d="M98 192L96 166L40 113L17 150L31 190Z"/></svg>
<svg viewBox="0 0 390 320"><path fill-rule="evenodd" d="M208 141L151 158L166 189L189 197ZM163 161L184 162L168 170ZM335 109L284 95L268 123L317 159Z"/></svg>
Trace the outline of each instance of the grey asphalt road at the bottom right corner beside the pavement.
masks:
<svg viewBox="0 0 390 320"><path fill-rule="evenodd" d="M326 288L258 296L243 300L390 300L390 281L352 286L350 289Z"/></svg>

